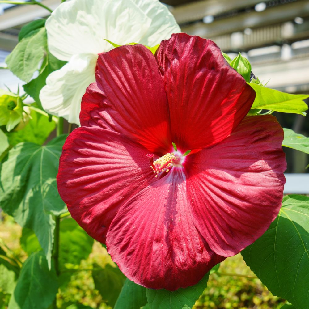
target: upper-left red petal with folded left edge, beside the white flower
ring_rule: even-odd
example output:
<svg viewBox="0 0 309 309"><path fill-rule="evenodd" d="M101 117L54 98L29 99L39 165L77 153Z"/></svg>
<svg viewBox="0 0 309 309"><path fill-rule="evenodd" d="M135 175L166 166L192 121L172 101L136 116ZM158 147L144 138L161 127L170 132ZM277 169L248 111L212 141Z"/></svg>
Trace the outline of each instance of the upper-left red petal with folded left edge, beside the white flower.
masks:
<svg viewBox="0 0 309 309"><path fill-rule="evenodd" d="M87 90L83 97L82 125L97 125L98 119L146 147L149 152L171 150L169 112L163 80L154 55L143 45L125 45L98 58L96 83L101 89ZM83 108L102 106L91 113L93 123ZM87 113L86 113L87 114Z"/></svg>

